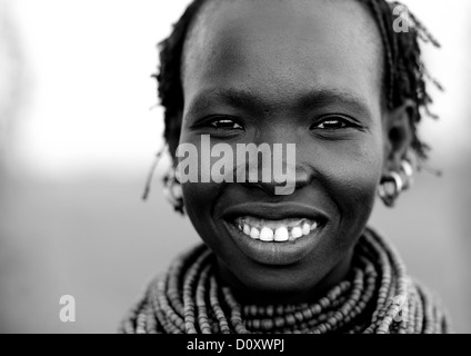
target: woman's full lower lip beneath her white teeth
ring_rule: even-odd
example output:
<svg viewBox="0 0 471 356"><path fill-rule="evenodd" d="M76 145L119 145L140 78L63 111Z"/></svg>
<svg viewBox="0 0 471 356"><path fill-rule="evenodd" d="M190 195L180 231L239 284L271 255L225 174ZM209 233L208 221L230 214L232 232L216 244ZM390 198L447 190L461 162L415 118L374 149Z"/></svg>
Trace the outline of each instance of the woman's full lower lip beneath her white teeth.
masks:
<svg viewBox="0 0 471 356"><path fill-rule="evenodd" d="M247 236L229 221L224 221L224 225L245 256L259 264L273 266L292 265L303 259L314 249L322 231L322 226L318 226L309 235L295 240L264 243Z"/></svg>

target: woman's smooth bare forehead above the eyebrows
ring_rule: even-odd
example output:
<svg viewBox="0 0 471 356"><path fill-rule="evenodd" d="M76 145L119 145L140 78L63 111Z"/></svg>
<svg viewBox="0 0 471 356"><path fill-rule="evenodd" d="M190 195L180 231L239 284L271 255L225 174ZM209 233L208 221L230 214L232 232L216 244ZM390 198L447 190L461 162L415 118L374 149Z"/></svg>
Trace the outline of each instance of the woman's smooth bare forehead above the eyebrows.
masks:
<svg viewBox="0 0 471 356"><path fill-rule="evenodd" d="M331 89L380 101L382 44L354 0L209 0L184 44L186 102L236 87L287 100Z"/></svg>

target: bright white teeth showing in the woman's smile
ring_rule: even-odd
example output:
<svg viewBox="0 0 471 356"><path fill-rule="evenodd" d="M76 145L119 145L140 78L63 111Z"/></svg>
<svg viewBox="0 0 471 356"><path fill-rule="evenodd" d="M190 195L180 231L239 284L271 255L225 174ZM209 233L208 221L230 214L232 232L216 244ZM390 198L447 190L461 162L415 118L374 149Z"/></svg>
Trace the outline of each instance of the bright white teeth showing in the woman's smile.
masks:
<svg viewBox="0 0 471 356"><path fill-rule="evenodd" d="M234 225L252 239L264 243L284 243L309 235L318 228L319 222L307 218L267 220L244 216L237 218Z"/></svg>

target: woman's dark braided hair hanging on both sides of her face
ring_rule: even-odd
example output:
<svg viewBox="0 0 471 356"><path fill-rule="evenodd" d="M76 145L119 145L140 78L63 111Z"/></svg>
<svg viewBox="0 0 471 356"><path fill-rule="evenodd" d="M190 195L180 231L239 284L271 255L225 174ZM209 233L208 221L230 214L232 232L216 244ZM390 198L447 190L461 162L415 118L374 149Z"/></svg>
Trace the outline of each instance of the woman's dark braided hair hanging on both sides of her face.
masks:
<svg viewBox="0 0 471 356"><path fill-rule="evenodd" d="M160 103L164 108L163 138L169 144L170 152L174 152L181 129L181 111L183 108L183 90L181 83L181 61L184 40L199 9L207 0L193 0L180 20L173 26L171 34L159 43L160 68L153 75L158 81ZM401 14L394 14L393 9L399 2L385 0L357 0L365 4L372 14L381 33L384 47L384 76L383 98L388 109L401 106L404 100L413 101L411 118L412 142L411 148L420 161L428 158L429 146L423 142L417 132L423 115L435 118L429 110L432 99L428 92L428 80L439 89L441 86L434 81L427 71L421 58L419 40L431 42L440 47L422 23L408 12L408 31L394 31L394 22ZM405 7L403 7L405 9Z"/></svg>

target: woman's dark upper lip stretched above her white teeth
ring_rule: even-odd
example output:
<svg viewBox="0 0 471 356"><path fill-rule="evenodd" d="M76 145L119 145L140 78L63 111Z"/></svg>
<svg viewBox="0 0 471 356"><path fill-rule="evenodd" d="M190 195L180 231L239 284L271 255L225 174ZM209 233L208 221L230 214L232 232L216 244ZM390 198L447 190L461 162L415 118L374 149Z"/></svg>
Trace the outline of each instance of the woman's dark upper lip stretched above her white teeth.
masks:
<svg viewBox="0 0 471 356"><path fill-rule="evenodd" d="M324 222L327 214L318 208L300 202L243 202L233 205L222 211L224 219L233 220L241 216L253 216L265 220L282 220L289 218L308 218Z"/></svg>

